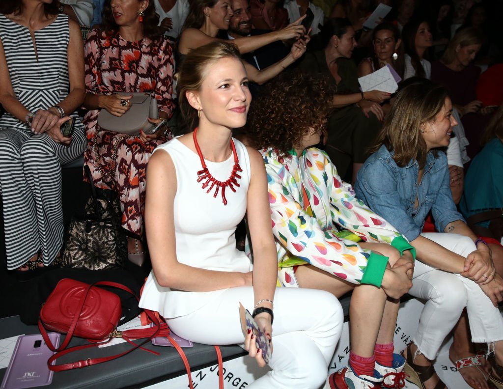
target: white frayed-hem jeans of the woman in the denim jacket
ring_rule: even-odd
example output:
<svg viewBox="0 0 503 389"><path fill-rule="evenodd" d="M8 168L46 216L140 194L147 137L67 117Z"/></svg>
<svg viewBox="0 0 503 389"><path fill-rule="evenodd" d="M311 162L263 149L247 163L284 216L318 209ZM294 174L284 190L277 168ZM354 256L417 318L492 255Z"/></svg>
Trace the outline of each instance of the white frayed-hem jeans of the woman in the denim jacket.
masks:
<svg viewBox="0 0 503 389"><path fill-rule="evenodd" d="M421 235L463 257L476 250L473 241L462 235L444 232ZM428 359L437 357L442 342L458 322L464 307L472 342L503 339L503 318L498 308L492 305L480 286L468 278L416 261L409 294L427 300L413 341Z"/></svg>

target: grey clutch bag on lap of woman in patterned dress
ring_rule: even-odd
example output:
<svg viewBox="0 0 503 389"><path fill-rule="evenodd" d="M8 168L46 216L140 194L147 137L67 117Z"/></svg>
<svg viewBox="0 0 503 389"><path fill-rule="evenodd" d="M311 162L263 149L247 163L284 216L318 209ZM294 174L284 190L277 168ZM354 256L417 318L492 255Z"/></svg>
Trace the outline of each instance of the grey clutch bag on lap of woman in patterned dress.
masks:
<svg viewBox="0 0 503 389"><path fill-rule="evenodd" d="M149 133L155 126L148 118L157 119L157 101L148 93L123 93L125 96L133 95L129 102L131 108L122 116L114 116L106 109L98 114L98 125L107 131L121 134L138 135L140 130Z"/></svg>

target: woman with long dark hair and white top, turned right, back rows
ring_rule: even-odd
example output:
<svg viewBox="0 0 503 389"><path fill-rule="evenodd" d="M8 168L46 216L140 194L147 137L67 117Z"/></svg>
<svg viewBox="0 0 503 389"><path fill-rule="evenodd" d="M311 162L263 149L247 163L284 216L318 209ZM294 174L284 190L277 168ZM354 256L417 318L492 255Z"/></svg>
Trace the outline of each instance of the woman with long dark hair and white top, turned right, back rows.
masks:
<svg viewBox="0 0 503 389"><path fill-rule="evenodd" d="M426 19L415 16L403 27L403 46L405 49L405 71L403 79L424 77L430 79L432 65L426 57L433 44L433 35Z"/></svg>

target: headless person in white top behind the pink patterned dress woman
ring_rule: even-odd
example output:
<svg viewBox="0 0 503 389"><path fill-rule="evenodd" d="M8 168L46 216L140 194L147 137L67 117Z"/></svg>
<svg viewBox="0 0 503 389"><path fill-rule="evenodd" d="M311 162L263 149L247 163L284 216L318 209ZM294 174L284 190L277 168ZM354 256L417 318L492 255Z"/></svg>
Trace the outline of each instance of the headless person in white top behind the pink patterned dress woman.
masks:
<svg viewBox="0 0 503 389"><path fill-rule="evenodd" d="M161 33L177 39L189 15L187 0L153 0Z"/></svg>

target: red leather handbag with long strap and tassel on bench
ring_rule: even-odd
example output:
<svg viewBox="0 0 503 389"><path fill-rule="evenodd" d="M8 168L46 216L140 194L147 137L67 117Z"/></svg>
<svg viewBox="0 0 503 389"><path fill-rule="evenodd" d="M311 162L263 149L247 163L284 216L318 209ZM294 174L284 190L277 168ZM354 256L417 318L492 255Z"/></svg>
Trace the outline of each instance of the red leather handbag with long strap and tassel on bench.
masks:
<svg viewBox="0 0 503 389"><path fill-rule="evenodd" d="M45 304L42 306L40 319L38 321L38 328L45 343L47 344L47 347L49 347L52 351L56 351L56 354L47 360L47 366L49 369L53 371L63 371L107 362L129 354L137 348L141 348L141 346L152 340L152 338L162 336L166 337L171 342L182 357L189 378L189 387L193 389L189 361L187 360L182 348L170 336L170 329L167 327L167 324L161 320L159 314L157 312L144 309L142 316L146 315L146 321L153 323L153 327L140 330L128 330L124 332L117 331L117 325L119 324L122 310L120 298L115 293L99 288L98 286L112 286L125 290L134 295L139 301L138 296L136 296L131 289L116 282L100 281L89 285L70 278L64 278L59 281L47 298ZM66 337L60 347L54 347L47 336L46 329L66 334ZM86 338L92 343L66 348L73 336ZM112 356L92 359L88 358L86 360L61 365L52 364L57 358L72 351L108 343L113 338L125 339L134 347ZM132 342L133 339L142 338L146 339L139 344ZM219 347L214 347L216 349L218 359L219 388L223 389L222 355ZM143 350L150 351L158 355L158 353L154 351L147 349Z"/></svg>

